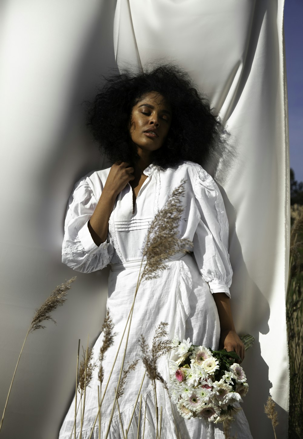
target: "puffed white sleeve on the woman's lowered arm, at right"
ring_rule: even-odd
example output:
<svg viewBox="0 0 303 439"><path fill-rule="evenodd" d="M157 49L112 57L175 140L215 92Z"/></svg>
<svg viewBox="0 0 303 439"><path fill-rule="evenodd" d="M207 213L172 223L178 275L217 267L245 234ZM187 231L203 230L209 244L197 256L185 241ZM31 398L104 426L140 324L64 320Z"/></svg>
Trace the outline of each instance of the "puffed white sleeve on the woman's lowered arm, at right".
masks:
<svg viewBox="0 0 303 439"><path fill-rule="evenodd" d="M222 195L213 178L199 166L194 187L200 221L193 237L197 266L212 293L230 297L233 275L228 254L229 225Z"/></svg>

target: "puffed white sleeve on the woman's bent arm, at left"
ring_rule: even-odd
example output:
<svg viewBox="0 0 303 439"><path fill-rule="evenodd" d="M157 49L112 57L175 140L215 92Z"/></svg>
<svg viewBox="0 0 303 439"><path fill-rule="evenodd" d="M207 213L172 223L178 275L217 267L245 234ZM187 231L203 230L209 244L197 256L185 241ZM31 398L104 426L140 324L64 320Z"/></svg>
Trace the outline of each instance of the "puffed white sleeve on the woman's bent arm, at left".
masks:
<svg viewBox="0 0 303 439"><path fill-rule="evenodd" d="M80 180L69 197L62 244L62 262L82 273L101 270L113 257L110 235L99 246L88 230L97 200L86 179Z"/></svg>

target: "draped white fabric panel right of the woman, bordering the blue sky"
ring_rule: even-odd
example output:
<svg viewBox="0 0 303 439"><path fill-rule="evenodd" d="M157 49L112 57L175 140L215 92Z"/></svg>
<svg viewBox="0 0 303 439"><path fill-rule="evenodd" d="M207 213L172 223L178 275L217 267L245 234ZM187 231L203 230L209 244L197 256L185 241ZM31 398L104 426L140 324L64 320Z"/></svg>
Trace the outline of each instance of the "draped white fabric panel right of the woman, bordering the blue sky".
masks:
<svg viewBox="0 0 303 439"><path fill-rule="evenodd" d="M240 334L256 337L243 367L252 435L272 437L264 403L278 406L287 436L288 137L281 0L118 0L119 68L177 62L231 133L215 175L230 221L230 288Z"/></svg>

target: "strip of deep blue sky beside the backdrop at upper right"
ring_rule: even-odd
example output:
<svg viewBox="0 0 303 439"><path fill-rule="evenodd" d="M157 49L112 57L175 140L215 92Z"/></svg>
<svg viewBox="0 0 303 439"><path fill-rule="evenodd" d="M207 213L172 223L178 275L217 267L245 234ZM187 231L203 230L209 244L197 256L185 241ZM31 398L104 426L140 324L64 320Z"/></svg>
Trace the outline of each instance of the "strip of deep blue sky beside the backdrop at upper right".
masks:
<svg viewBox="0 0 303 439"><path fill-rule="evenodd" d="M303 181L303 0L285 0L284 33L288 89L290 167Z"/></svg>

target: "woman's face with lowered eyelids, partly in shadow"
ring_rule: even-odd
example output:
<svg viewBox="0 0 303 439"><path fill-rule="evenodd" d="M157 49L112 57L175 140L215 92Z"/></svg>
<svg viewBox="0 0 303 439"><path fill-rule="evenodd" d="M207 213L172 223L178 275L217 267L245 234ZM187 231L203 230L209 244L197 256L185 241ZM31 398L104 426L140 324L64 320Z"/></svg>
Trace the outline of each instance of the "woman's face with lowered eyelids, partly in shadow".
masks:
<svg viewBox="0 0 303 439"><path fill-rule="evenodd" d="M171 120L171 108L165 98L155 91L146 93L131 111L131 140L138 149L155 151L163 145Z"/></svg>

